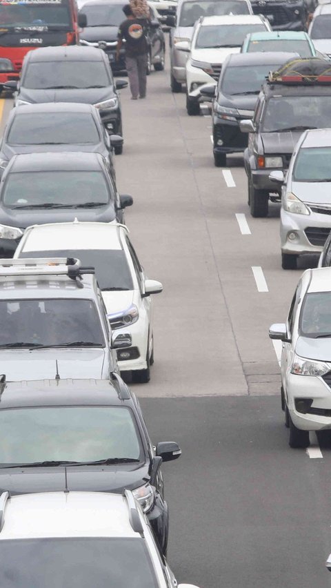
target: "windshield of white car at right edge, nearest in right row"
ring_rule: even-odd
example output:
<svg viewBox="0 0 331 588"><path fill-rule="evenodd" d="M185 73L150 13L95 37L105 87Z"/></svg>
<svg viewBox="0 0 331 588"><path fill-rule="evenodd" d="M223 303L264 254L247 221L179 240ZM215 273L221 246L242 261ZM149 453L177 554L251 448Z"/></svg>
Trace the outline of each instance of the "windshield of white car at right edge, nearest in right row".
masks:
<svg viewBox="0 0 331 588"><path fill-rule="evenodd" d="M300 332L305 337L331 337L331 292L312 292L305 296Z"/></svg>

